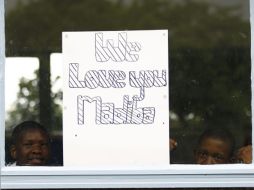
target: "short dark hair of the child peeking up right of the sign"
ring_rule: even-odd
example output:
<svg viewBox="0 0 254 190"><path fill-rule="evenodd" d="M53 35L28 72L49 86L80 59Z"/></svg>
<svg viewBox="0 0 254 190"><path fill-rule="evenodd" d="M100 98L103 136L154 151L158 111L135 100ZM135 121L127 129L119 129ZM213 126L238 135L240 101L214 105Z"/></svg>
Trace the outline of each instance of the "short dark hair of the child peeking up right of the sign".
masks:
<svg viewBox="0 0 254 190"><path fill-rule="evenodd" d="M219 139L228 143L230 147L230 156L233 155L235 148L235 139L226 128L207 128L199 137L198 145L200 145L202 141L206 138Z"/></svg>

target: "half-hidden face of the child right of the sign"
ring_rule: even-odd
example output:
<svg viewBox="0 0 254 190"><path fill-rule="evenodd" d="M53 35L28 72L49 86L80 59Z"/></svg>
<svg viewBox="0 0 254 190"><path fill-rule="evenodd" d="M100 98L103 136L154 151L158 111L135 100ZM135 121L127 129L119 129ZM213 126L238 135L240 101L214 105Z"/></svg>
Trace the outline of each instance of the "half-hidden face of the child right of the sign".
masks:
<svg viewBox="0 0 254 190"><path fill-rule="evenodd" d="M229 144L221 139L203 139L195 152L197 164L226 164L230 159Z"/></svg>

